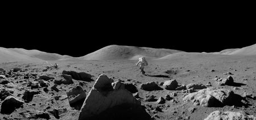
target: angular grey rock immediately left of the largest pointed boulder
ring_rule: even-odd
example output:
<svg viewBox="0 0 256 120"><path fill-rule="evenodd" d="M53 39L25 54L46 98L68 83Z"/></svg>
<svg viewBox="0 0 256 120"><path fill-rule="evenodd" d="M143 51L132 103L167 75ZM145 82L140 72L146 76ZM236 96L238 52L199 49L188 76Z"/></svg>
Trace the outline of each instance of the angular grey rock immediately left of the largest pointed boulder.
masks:
<svg viewBox="0 0 256 120"><path fill-rule="evenodd" d="M84 103L86 93L80 86L76 86L67 92L69 105L77 110L80 110Z"/></svg>

